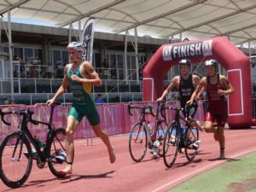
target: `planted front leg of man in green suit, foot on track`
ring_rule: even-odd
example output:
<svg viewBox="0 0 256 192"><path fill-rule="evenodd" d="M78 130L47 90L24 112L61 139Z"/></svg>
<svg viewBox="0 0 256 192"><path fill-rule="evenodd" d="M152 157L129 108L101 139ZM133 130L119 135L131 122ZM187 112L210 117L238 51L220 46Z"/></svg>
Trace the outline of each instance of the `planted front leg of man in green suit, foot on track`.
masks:
<svg viewBox="0 0 256 192"><path fill-rule="evenodd" d="M73 154L74 154L74 144L73 144L73 132L78 127L79 121L75 119L72 115L67 117L67 128L66 128L66 141L65 148L67 153L67 166L61 171L63 175L72 173L73 164Z"/></svg>

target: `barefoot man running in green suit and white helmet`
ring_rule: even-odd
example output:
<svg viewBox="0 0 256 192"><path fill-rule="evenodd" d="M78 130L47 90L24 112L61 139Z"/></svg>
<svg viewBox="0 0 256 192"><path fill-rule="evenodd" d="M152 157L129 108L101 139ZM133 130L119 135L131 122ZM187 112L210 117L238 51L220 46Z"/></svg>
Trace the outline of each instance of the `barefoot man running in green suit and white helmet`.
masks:
<svg viewBox="0 0 256 192"><path fill-rule="evenodd" d="M89 61L82 61L82 44L72 42L67 45L68 55L72 61L67 64L64 71L64 78L62 84L55 93L55 96L46 103L51 105L61 94L67 90L67 85L73 93L73 104L67 116L66 128L66 152L67 152L67 166L61 171L64 176L72 174L73 166L73 133L79 125L84 116L89 120L96 137L100 137L102 142L108 148L109 160L111 163L115 161L115 154L109 142L108 134L102 131L100 126L99 114L96 110L95 102L90 97L91 86L102 86L102 80L99 78L94 67Z"/></svg>

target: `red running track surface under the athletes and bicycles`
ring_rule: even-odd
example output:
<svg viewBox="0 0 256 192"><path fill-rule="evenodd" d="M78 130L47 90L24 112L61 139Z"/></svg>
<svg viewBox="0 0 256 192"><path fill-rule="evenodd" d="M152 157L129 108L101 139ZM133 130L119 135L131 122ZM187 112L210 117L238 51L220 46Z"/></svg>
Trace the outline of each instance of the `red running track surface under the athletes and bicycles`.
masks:
<svg viewBox="0 0 256 192"><path fill-rule="evenodd" d="M227 130L225 136L228 160L256 151L256 129ZM201 148L195 160L187 163L184 154L179 154L171 169L166 169L161 158L152 159L149 152L143 162L134 163L128 150L128 135L110 139L117 156L114 164L109 163L107 149L101 140L95 139L92 146L86 146L86 140L76 140L73 175L58 179L47 166L38 169L33 162L32 173L23 186L9 189L0 181L0 191L166 191L226 161L216 160L218 143L207 133L201 133Z"/></svg>

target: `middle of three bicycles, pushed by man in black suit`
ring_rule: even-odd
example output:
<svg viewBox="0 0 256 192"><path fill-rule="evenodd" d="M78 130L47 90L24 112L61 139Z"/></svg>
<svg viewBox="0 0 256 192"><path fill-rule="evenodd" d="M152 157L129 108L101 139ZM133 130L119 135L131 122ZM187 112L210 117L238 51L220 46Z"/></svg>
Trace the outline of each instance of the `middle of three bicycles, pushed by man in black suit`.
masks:
<svg viewBox="0 0 256 192"><path fill-rule="evenodd" d="M153 109L151 106L148 107L132 107L131 103L128 105L128 110L130 115L132 116L131 109L139 109L141 112L141 116L139 121L132 125L131 133L129 137L129 152L131 154L131 159L135 162L140 162L143 160L147 148L151 149L154 157L159 155L163 156L163 150L160 148L163 142L163 136L166 130L166 119L160 119L160 104L158 104L156 114L153 113ZM146 114L147 110L149 110L149 114L154 116L156 119L156 123L154 125L154 130L151 130L147 125Z"/></svg>

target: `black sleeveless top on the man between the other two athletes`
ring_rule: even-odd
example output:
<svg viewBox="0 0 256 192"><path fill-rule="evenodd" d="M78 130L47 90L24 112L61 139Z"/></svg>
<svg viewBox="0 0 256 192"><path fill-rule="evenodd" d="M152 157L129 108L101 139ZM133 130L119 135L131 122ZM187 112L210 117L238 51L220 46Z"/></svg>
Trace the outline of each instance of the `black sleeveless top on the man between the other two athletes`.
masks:
<svg viewBox="0 0 256 192"><path fill-rule="evenodd" d="M189 74L188 79L183 79L182 76L180 75L178 93L180 96L181 108L185 107L186 102L189 101L194 90L195 90L195 87L194 87L193 80L192 80L192 74Z"/></svg>

